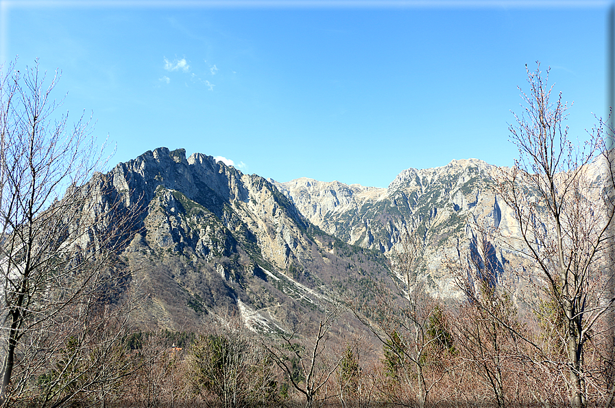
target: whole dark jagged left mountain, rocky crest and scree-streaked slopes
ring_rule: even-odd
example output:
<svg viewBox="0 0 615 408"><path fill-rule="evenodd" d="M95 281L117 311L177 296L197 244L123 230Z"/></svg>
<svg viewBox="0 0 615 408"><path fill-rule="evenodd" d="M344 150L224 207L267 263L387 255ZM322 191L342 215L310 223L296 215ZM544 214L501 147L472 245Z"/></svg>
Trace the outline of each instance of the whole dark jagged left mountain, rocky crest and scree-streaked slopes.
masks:
<svg viewBox="0 0 615 408"><path fill-rule="evenodd" d="M195 329L222 308L274 331L324 311L331 288L386 276L382 256L336 240L263 177L210 156L159 148L97 180L106 195L92 199L141 207L123 256L143 327Z"/></svg>

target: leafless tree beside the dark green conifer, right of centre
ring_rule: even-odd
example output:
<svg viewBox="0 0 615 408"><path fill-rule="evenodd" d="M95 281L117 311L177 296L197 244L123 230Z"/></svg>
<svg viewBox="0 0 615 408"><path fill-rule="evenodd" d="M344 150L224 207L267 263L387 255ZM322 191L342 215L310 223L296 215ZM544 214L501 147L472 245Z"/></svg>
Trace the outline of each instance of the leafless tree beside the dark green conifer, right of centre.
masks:
<svg viewBox="0 0 615 408"><path fill-rule="evenodd" d="M426 406L433 388L444 378L446 369L435 364L440 351L452 347L452 338L442 324L443 306L424 290L424 282L416 274L422 243L418 234L404 229L400 250L391 260L391 271L397 291L381 283L376 285L374 303L365 316L355 314L378 337L385 350L389 375L397 384L414 394L396 398L402 405ZM438 357L442 357L441 355Z"/></svg>

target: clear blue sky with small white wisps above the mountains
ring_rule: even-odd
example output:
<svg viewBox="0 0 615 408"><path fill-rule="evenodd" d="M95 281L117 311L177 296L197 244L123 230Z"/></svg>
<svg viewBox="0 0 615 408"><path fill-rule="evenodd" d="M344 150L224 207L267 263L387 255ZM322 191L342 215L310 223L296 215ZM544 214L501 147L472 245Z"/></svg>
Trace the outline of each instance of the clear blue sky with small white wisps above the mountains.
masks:
<svg viewBox="0 0 615 408"><path fill-rule="evenodd" d="M386 187L405 168L507 166L525 64L604 116L607 8L580 1L6 1L0 58L39 58L111 162L159 146L278 181Z"/></svg>

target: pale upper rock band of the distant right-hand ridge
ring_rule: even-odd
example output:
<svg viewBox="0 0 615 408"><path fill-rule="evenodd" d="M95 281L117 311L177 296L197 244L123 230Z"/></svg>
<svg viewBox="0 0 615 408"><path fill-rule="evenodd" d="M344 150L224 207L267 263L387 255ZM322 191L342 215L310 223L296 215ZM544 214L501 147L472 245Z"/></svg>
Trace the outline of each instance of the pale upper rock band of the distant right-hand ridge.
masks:
<svg viewBox="0 0 615 408"><path fill-rule="evenodd" d="M492 190L495 171L494 166L470 159L439 168L409 168L387 189L305 178L274 184L324 231L389 253L403 227L413 231L418 225L448 222L459 229L457 218L470 215L488 216L499 225L503 214Z"/></svg>

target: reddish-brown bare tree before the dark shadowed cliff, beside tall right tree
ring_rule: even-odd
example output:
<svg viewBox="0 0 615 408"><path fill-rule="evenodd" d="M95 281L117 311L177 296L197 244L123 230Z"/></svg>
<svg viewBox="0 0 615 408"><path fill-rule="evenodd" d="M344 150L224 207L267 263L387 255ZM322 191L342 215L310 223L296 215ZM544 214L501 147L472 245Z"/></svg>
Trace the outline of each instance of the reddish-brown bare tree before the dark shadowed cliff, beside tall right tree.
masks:
<svg viewBox="0 0 615 408"><path fill-rule="evenodd" d="M487 384L496 406L505 407L518 397L507 395L506 379L517 377L510 375L508 368L519 362L522 353L516 350L515 337L523 329L506 288L498 282L503 271L490 241L495 231L478 223L474 229L469 253L446 262L466 296L453 324L455 339L461 358Z"/></svg>

